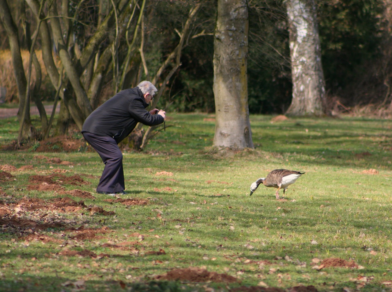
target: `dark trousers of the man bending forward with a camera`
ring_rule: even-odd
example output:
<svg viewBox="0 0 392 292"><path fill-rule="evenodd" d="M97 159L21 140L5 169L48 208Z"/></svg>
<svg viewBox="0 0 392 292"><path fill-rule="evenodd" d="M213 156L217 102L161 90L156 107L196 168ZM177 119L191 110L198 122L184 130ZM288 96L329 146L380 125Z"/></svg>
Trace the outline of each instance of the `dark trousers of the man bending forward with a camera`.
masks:
<svg viewBox="0 0 392 292"><path fill-rule="evenodd" d="M97 186L97 192L120 192L125 190L122 153L116 141L109 136L97 136L84 132L83 137L101 156L105 167Z"/></svg>

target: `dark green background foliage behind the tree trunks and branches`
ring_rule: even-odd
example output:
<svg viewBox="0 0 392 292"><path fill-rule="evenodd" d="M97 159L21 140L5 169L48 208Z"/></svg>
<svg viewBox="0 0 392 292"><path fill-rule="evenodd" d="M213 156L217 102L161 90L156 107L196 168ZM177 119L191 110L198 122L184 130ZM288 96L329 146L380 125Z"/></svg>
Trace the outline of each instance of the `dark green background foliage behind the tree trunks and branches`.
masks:
<svg viewBox="0 0 392 292"><path fill-rule="evenodd" d="M147 1L145 24L145 55L149 74L140 70L142 79L151 79L160 64L176 47L189 9L198 1ZM194 33L204 36L192 39L183 49L181 66L165 84L162 107L181 112L214 111L213 36L216 17L216 0L202 0L203 6L192 26ZM21 28L24 21L19 1L11 2L14 18ZM73 15L78 2L70 2ZM74 23L76 45L83 47L91 37L91 27L97 24L96 2L83 2L83 9ZM319 30L322 62L331 107L339 101L346 108L356 105L389 105L392 82L392 50L389 0L325 0L318 1ZM26 17L31 20L27 9ZM34 21L31 20L32 27ZM94 25L91 25L94 24ZM134 24L133 24L134 25ZM249 1L249 110L251 113L284 113L291 101L288 32L283 1ZM177 32L176 32L177 31ZM0 48L7 49L4 36ZM25 47L23 37L20 38ZM109 40L108 40L109 41ZM119 47L119 56L125 56L125 47ZM11 75L9 60L2 54L1 72ZM141 66L133 60L131 66ZM170 66L166 69L169 71ZM105 76L101 100L113 94L113 73ZM1 86L7 88L7 100L17 101L15 83L2 78ZM162 84L158 84L162 86ZM46 87L46 88L45 88ZM49 88L48 88L49 87ZM54 89L44 83L42 99L50 100ZM340 108L342 109L342 108Z"/></svg>

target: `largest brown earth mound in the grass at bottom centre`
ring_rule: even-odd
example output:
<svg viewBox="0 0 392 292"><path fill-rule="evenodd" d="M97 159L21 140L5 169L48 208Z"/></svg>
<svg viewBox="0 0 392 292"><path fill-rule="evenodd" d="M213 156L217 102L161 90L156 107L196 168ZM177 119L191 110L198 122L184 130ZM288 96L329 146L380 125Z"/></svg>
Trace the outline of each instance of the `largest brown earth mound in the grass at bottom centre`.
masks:
<svg viewBox="0 0 392 292"><path fill-rule="evenodd" d="M155 277L157 280L186 281L186 282L214 282L214 283L234 283L235 277L227 274L208 272L205 269L191 267L184 269L173 269L163 275Z"/></svg>

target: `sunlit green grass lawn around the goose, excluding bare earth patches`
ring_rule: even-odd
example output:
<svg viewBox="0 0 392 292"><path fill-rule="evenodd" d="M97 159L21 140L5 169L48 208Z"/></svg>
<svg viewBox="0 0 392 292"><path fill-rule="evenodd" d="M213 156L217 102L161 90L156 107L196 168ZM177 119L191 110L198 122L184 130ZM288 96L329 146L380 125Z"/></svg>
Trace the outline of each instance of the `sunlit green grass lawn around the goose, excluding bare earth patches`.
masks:
<svg viewBox="0 0 392 292"><path fill-rule="evenodd" d="M0 291L229 291L260 282L284 289L314 285L318 291L392 290L391 121L345 117L271 123L271 116L251 116L255 149L230 152L211 147L214 122L204 120L211 115L168 116L166 131L158 133L144 152L124 152L129 192L124 198L148 198L149 203L125 206L95 195L94 200L73 199L115 215L85 210L15 214L35 222L57 216L69 226L15 232L0 225ZM14 120L0 121L3 143L17 135ZM42 163L35 158L38 155L58 157L72 167ZM60 196L27 190L33 174L66 169L65 175L80 174L91 184L64 185L65 189L94 192L103 167L92 151L33 149L0 152L0 165L5 164L34 168L13 171L14 180L0 181L0 210L23 197ZM249 196L253 181L278 168L306 174L289 187L285 201L276 201L275 189L263 186ZM377 173L364 172L370 169ZM162 171L172 176L157 174ZM76 240L71 226L107 227L113 232ZM58 241L27 241L34 232ZM102 247L126 241L131 242L128 249ZM160 249L165 254L154 254ZM64 250L108 256L62 256ZM363 268L318 270L313 268L314 258L352 259ZM187 267L225 273L238 281L154 279Z"/></svg>

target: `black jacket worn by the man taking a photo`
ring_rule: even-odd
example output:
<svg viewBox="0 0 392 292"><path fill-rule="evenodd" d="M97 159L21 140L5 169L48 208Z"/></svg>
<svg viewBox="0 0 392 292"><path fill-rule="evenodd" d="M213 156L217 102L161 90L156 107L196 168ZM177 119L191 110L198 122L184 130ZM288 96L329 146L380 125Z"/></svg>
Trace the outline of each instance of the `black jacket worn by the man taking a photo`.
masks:
<svg viewBox="0 0 392 292"><path fill-rule="evenodd" d="M120 91L87 117L82 133L110 136L120 143L131 134L138 122L147 126L163 123L163 116L150 114L146 110L147 106L148 103L138 87Z"/></svg>

